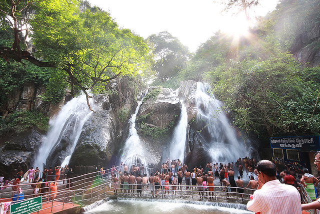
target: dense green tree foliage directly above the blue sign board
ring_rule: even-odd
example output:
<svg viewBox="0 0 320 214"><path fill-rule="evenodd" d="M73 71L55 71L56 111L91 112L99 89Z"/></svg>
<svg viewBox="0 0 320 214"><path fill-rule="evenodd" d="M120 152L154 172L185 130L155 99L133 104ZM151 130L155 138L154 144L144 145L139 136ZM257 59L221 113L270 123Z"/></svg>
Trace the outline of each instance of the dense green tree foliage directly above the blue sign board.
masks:
<svg viewBox="0 0 320 214"><path fill-rule="evenodd" d="M283 133L311 134L320 127L320 108L312 117L318 83L302 77L290 54L267 60L234 61L212 71L218 76L214 94L225 102L234 124L268 136ZM306 87L311 86L311 87Z"/></svg>

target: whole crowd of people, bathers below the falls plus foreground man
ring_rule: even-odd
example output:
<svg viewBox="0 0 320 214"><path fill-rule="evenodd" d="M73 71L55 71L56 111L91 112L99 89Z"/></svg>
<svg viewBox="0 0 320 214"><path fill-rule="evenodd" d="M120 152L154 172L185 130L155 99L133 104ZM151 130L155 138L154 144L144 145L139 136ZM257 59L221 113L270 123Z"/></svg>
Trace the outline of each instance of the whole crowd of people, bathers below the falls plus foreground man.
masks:
<svg viewBox="0 0 320 214"><path fill-rule="evenodd" d="M320 151L315 153L314 164L320 171ZM248 193L252 195L247 203L247 209L253 212L301 213L301 209L320 208L320 199L317 199L319 191L316 188L319 177L310 174L307 168L296 166L297 164L293 167L290 164L281 166L278 160L256 162L255 158L239 157L231 163L208 162L204 167L189 168L179 159L167 158L161 167L153 172L147 171L143 164L128 167L121 162L118 167L112 165L109 175L111 175L114 193L121 191L127 195L142 196L144 190L150 190L152 196L156 197L159 191L162 194L177 194L179 189L192 189L198 192L200 198L205 196L211 199L214 191L213 182L216 180L215 183L219 183L226 194L236 192L241 198L244 189L249 188ZM72 174L72 168L68 168L67 165L55 166L53 169L52 167L44 168L42 176L38 167L35 169L31 167L25 173L19 170L11 180L4 180L1 175L0 185L12 184L13 194L20 191L19 184L22 177L25 179L27 177L34 189L34 196L46 195L50 192L51 198L48 199L53 199L57 193L57 180L60 177L72 178ZM105 170L101 167L98 179L103 179L105 176ZM236 180L235 176L237 176ZM70 187L70 179L67 181L66 187ZM244 182L247 182L246 186ZM314 202L303 203L302 186Z"/></svg>

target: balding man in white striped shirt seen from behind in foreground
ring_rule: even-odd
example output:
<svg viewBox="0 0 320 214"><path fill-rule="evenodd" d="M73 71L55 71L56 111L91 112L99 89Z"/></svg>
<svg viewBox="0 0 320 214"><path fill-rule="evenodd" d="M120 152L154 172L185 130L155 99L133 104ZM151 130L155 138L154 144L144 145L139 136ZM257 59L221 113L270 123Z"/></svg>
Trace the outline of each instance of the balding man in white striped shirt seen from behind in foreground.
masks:
<svg viewBox="0 0 320 214"><path fill-rule="evenodd" d="M246 208L261 214L301 214L300 194L294 186L280 183L276 179L274 163L261 160L255 167L258 171L258 190Z"/></svg>

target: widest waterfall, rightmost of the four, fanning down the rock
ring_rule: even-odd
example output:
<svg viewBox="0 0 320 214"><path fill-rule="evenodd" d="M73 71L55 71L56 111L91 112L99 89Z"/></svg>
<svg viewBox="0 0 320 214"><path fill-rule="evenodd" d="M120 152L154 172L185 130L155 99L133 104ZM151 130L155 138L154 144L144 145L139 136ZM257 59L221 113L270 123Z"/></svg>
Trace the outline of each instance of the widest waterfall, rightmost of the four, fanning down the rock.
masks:
<svg viewBox="0 0 320 214"><path fill-rule="evenodd" d="M205 139L205 149L209 152L213 162L234 161L247 153L243 142L238 141L235 130L230 125L225 113L221 109L222 102L209 95L210 86L197 82L194 95L197 118L202 124L198 130Z"/></svg>

